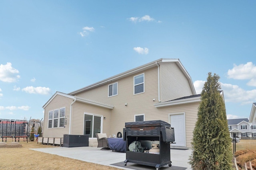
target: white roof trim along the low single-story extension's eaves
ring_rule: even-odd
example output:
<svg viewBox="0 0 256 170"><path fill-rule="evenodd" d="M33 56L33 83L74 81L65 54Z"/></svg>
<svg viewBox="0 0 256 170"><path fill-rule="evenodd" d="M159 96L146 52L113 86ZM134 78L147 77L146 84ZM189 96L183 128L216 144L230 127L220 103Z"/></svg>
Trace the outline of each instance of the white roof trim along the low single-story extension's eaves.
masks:
<svg viewBox="0 0 256 170"><path fill-rule="evenodd" d="M61 92L56 92L51 98L50 100L48 100L48 102L43 106L43 109L55 98L55 96L57 95L60 95L60 96L64 96L66 98L70 98L70 99L73 99L75 100L76 98L76 101L78 102L83 102L83 103L86 103L86 104L91 104L91 105L94 105L94 106L99 106L99 107L104 107L104 108L107 108L107 109L113 109L114 106L111 106L111 105L108 105L108 104L103 104L103 103L100 103L100 102L95 102L93 100L88 100L88 99L85 99L85 98L81 98L81 97L76 97L76 96L72 96L72 95L69 95L69 94L65 94L65 93L61 93Z"/></svg>

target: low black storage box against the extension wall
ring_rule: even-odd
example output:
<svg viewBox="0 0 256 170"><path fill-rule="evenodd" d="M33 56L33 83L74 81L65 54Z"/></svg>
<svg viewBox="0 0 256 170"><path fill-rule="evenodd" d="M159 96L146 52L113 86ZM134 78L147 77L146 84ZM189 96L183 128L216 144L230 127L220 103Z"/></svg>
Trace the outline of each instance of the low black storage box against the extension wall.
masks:
<svg viewBox="0 0 256 170"><path fill-rule="evenodd" d="M64 135L63 147L88 147L89 135Z"/></svg>

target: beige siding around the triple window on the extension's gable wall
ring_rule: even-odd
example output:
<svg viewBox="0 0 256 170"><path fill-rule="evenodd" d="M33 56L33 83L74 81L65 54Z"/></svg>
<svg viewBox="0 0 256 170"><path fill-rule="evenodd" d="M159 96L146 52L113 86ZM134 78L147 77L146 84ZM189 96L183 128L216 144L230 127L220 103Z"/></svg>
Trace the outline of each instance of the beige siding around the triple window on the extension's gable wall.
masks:
<svg viewBox="0 0 256 170"><path fill-rule="evenodd" d="M69 133L69 117L70 117L70 104L72 99L56 95L55 98L44 109L44 131L43 137L63 137L64 134ZM48 128L49 111L54 109L65 108L65 118L68 120L65 127Z"/></svg>

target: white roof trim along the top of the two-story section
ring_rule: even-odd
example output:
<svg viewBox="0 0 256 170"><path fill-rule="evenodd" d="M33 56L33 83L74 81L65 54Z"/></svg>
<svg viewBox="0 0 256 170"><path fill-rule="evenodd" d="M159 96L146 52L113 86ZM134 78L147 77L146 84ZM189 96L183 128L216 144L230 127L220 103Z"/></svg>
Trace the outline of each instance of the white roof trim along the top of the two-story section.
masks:
<svg viewBox="0 0 256 170"><path fill-rule="evenodd" d="M132 74L136 74L138 72L142 72L144 70L148 70L149 68L153 68L155 66L158 66L159 63L176 63L178 65L178 67L180 68L180 70L182 70L182 72L184 73L184 75L186 76L186 78L188 79L188 82L190 84L190 88L191 88L191 91L193 94L196 94L196 91L194 89L194 85L193 85L193 82L192 82L192 79L190 77L190 75L188 74L188 72L186 71L186 69L184 68L184 66L180 63L180 60L179 59L158 59L156 61L152 61L148 64L144 64L142 66L139 66L139 67L136 67L136 68L133 68L131 70L128 70L126 72L122 72L120 74L117 74L115 76L112 76L110 78L107 78L107 79L104 79L100 82L96 82L94 84L91 84L89 86L86 86L84 88L80 88L74 92L70 92L68 93L69 95L76 95L82 91L87 91L87 90L90 90L92 88L95 88L95 87L98 87L98 86L102 86L103 84L108 84L110 82L114 82L114 81L117 81L121 78L124 78L124 77L127 77L127 76L130 76Z"/></svg>

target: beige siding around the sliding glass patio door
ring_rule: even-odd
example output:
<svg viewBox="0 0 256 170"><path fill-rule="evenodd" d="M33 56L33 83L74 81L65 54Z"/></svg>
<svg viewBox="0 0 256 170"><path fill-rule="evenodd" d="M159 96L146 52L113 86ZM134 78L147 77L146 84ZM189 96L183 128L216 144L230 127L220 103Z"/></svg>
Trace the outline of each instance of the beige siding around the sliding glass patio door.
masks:
<svg viewBox="0 0 256 170"><path fill-rule="evenodd" d="M84 113L90 113L94 115L100 115L106 117L103 119L102 133L106 133L109 136L110 131L110 109L98 107L90 104L84 104L82 102L75 102L73 104L72 111L72 135L83 135L84 134Z"/></svg>

